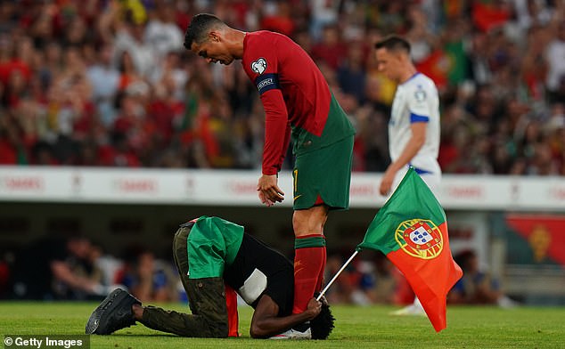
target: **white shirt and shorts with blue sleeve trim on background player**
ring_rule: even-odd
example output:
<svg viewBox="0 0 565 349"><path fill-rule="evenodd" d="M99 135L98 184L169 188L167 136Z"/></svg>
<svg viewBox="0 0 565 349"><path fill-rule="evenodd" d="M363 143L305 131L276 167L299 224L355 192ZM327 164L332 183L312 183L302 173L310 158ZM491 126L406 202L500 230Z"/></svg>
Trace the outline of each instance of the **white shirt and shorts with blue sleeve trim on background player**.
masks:
<svg viewBox="0 0 565 349"><path fill-rule="evenodd" d="M413 166L434 191L441 179L441 168L438 164L438 88L430 77L426 77L422 73L414 74L403 84L397 86L389 120L389 154L393 162L400 157L406 144L410 142L412 137L410 126L415 122L427 124L426 141L408 165ZM408 166L405 170L407 168ZM393 189L404 177L405 170L398 171Z"/></svg>

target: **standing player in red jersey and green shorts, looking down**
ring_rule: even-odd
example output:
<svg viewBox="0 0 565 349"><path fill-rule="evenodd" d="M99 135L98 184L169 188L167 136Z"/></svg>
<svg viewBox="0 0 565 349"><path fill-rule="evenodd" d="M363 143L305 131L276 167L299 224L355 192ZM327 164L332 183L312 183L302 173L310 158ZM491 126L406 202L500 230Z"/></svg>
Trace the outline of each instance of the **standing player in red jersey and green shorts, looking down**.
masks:
<svg viewBox="0 0 565 349"><path fill-rule="evenodd" d="M277 174L292 138L296 157L292 312L304 312L323 286L323 226L328 211L348 208L355 130L314 61L289 37L270 31L243 32L201 13L192 18L184 46L211 63L242 60L257 85L266 114L263 175L257 189L267 207L284 199Z"/></svg>

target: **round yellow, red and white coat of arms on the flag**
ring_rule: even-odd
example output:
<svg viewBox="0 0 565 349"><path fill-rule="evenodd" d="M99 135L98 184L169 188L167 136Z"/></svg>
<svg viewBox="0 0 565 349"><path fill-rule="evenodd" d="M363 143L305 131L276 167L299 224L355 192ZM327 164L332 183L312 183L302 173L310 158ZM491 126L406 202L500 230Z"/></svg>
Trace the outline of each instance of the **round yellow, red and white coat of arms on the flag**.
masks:
<svg viewBox="0 0 565 349"><path fill-rule="evenodd" d="M444 247L441 231L428 219L409 219L395 231L397 244L406 254L422 259L433 259Z"/></svg>

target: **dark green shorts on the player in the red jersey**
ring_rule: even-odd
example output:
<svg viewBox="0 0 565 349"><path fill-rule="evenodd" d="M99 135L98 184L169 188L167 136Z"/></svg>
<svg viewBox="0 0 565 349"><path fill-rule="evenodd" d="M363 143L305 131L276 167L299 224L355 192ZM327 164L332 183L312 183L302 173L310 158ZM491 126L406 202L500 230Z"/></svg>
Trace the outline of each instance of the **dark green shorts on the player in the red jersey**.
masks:
<svg viewBox="0 0 565 349"><path fill-rule="evenodd" d="M353 140L354 136L350 135L340 142L296 157L292 171L295 210L321 203L331 210L349 207Z"/></svg>

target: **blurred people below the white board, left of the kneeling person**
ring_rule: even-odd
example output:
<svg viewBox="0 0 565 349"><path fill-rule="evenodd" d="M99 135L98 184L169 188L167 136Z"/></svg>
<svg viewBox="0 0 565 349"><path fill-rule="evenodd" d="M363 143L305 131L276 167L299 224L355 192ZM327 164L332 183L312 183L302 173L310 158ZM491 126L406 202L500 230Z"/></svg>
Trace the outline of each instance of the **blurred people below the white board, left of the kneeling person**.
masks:
<svg viewBox="0 0 565 349"><path fill-rule="evenodd" d="M118 287L143 302L186 300L175 265L148 248L116 257L91 239L50 234L0 258L0 299L98 300Z"/></svg>

